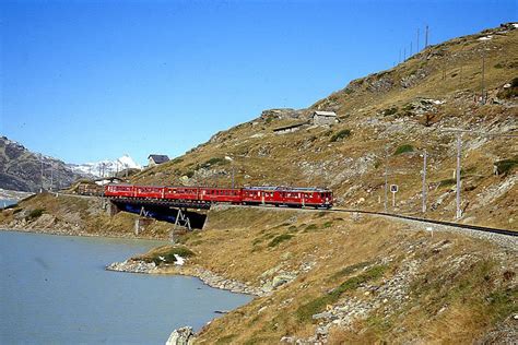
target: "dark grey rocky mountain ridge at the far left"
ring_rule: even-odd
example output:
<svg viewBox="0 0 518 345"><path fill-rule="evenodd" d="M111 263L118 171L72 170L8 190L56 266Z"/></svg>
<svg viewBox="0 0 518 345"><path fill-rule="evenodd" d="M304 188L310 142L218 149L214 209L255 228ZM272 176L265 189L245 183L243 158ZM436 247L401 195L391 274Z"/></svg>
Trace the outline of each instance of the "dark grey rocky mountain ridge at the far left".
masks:
<svg viewBox="0 0 518 345"><path fill-rule="evenodd" d="M28 151L22 144L0 136L0 188L36 192L70 186L82 175L62 160Z"/></svg>

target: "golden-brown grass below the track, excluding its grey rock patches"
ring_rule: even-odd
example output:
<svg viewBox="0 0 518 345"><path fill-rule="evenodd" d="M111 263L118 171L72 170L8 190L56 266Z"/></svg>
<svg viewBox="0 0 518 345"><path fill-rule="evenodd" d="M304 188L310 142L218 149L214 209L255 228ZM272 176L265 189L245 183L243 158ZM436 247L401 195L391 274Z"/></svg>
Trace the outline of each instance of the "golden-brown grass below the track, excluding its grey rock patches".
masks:
<svg viewBox="0 0 518 345"><path fill-rule="evenodd" d="M332 226L322 228L328 222ZM318 225L318 230L304 231L307 224ZM276 247L269 247L269 239L258 241L287 233L294 237ZM508 261L501 262L494 257L502 251L484 241L447 233L431 237L411 230L408 225L380 218L353 222L345 216L338 221L332 213L320 216L315 212L229 207L211 211L207 229L188 235L183 242L196 252L192 263L255 286L275 275L262 275L272 267L297 271L304 262L316 262L309 273L299 274L272 296L256 298L214 320L201 332L201 343L220 340L232 344L270 344L278 343L283 335L308 337L315 324L310 318L298 318L297 310L367 274L368 267L375 267L384 258L392 258L385 278L399 270L402 260L423 262L409 292L411 299L403 305L389 301L389 308L396 310L389 318L375 310L366 320L358 320L353 330L333 329L331 344L472 342L513 312L504 305L516 298L510 293L502 295L509 279L501 272L501 265L516 270L513 264L509 267L516 253L504 254ZM409 251L410 248L413 249ZM458 272L445 269L460 255L469 255L466 266ZM484 283L486 275L494 276L491 283ZM427 283L423 283L425 278ZM374 279L372 284L382 281ZM369 298L358 289L361 285L348 286L329 302L351 296ZM495 302L484 302L491 296L497 297ZM443 306L447 308L439 313ZM402 328L405 331L401 333L398 330Z"/></svg>

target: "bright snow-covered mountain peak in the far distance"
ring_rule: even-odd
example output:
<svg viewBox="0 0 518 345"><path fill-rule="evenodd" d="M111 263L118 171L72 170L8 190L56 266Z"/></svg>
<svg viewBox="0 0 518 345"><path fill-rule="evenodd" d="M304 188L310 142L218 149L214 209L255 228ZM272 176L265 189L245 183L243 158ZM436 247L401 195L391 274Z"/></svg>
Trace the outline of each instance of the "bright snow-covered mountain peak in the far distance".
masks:
<svg viewBox="0 0 518 345"><path fill-rule="evenodd" d="M74 172L90 177L108 177L127 169L142 169L128 154L114 160L104 159L96 163L69 164L69 167Z"/></svg>

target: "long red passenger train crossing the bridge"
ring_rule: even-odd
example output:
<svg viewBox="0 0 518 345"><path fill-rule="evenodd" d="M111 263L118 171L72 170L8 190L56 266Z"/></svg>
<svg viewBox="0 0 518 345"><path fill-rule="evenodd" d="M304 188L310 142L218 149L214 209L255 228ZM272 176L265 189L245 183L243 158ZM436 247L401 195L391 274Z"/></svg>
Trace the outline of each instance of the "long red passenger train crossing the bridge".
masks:
<svg viewBox="0 0 518 345"><path fill-rule="evenodd" d="M107 185L104 195L108 198L180 201L191 203L233 203L243 205L270 204L291 207L332 206L332 191L318 188L248 187L154 187L132 185Z"/></svg>

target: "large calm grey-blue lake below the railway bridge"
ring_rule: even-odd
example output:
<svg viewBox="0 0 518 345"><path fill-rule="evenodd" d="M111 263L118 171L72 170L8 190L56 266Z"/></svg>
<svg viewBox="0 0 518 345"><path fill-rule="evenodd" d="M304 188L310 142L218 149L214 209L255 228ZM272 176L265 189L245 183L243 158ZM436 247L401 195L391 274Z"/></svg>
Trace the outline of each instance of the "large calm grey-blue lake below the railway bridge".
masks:
<svg viewBox="0 0 518 345"><path fill-rule="evenodd" d="M251 299L193 277L104 270L161 243L0 231L0 344L164 344Z"/></svg>

